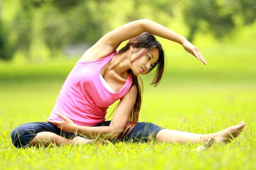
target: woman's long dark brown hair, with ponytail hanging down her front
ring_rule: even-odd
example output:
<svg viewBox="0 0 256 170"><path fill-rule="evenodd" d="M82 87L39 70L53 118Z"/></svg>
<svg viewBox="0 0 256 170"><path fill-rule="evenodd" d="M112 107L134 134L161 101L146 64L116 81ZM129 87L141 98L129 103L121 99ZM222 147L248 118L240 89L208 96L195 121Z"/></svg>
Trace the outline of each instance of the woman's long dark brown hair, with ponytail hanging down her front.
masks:
<svg viewBox="0 0 256 170"><path fill-rule="evenodd" d="M153 81L150 84L157 86L164 72L164 59L165 59L164 51L162 49L162 45L160 44L160 42L155 38L154 35L148 32L144 32L144 33L141 33L140 35L137 35L134 38L131 38L127 42L126 46L120 49L118 53L119 54L125 53L130 48L130 46L134 46L135 48L138 48L138 49L141 49L141 48L145 49L143 53L135 57L135 59L132 60L131 62L138 60L140 57L142 57L143 55L145 55L146 53L148 53L154 48L157 48L159 50L159 59L153 66L150 66L147 72L149 73L156 67L157 70L155 72L155 76L153 78ZM125 130L122 133L122 135L119 137L119 139L122 139L123 137L127 137L127 135L136 126L139 119L139 110L141 107L141 99L142 99L141 89L143 89L143 83L141 81L141 78L139 76L135 76L131 70L129 70L128 73L132 76L132 86L136 86L137 88L137 97L136 97L136 102L132 108L132 113L129 117L128 124L126 125Z"/></svg>

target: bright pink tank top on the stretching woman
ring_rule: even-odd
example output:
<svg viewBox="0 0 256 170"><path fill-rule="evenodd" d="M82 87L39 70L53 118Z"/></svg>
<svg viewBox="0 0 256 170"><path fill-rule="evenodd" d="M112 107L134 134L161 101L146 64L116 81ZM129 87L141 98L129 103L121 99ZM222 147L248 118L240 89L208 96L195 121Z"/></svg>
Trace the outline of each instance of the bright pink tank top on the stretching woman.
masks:
<svg viewBox="0 0 256 170"><path fill-rule="evenodd" d="M65 80L50 120L62 120L59 112L80 126L93 126L106 120L107 108L126 95L132 85L128 75L120 91L107 90L100 79L100 71L117 53L94 61L78 61Z"/></svg>

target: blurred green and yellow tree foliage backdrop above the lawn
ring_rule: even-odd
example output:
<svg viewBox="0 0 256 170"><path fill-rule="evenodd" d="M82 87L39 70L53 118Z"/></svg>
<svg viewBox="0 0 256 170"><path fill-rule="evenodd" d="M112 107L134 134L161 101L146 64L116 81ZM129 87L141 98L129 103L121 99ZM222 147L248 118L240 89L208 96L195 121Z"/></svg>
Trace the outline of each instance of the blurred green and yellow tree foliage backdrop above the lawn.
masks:
<svg viewBox="0 0 256 170"><path fill-rule="evenodd" d="M141 18L169 28L179 20L174 31L189 41L200 32L221 42L253 24L255 11L255 0L0 0L0 59L82 54L108 31Z"/></svg>

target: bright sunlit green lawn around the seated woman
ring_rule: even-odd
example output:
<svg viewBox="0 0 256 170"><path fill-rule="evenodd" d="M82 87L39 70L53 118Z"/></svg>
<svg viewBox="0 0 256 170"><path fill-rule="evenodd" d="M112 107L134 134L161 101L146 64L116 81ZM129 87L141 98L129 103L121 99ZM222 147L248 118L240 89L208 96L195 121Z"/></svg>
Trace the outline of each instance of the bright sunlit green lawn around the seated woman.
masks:
<svg viewBox="0 0 256 170"><path fill-rule="evenodd" d="M183 51L169 53L168 67L156 88L148 85L150 76L143 77L139 121L210 133L244 120L246 128L238 139L202 152L193 150L200 143L154 142L17 149L11 144L11 130L48 118L77 58L44 64L1 62L0 169L255 169L256 53L203 52L207 66Z"/></svg>

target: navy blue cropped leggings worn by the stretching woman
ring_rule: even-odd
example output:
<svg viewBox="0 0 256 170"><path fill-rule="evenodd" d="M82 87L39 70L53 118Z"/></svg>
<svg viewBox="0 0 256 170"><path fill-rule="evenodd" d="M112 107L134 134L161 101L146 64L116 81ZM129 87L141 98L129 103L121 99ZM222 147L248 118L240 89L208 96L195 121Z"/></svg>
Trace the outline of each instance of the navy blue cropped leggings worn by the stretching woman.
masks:
<svg viewBox="0 0 256 170"><path fill-rule="evenodd" d="M97 124L95 126L109 126L110 121L104 121L103 123ZM157 133L164 128L157 126L152 123L139 122L130 132L130 134L122 141L141 141L145 142L150 139L155 139ZM17 148L26 146L38 132L53 132L57 135L65 137L67 139L73 139L76 137L74 133L64 132L57 126L49 122L34 122L22 124L15 128L11 132L11 140L13 145Z"/></svg>

